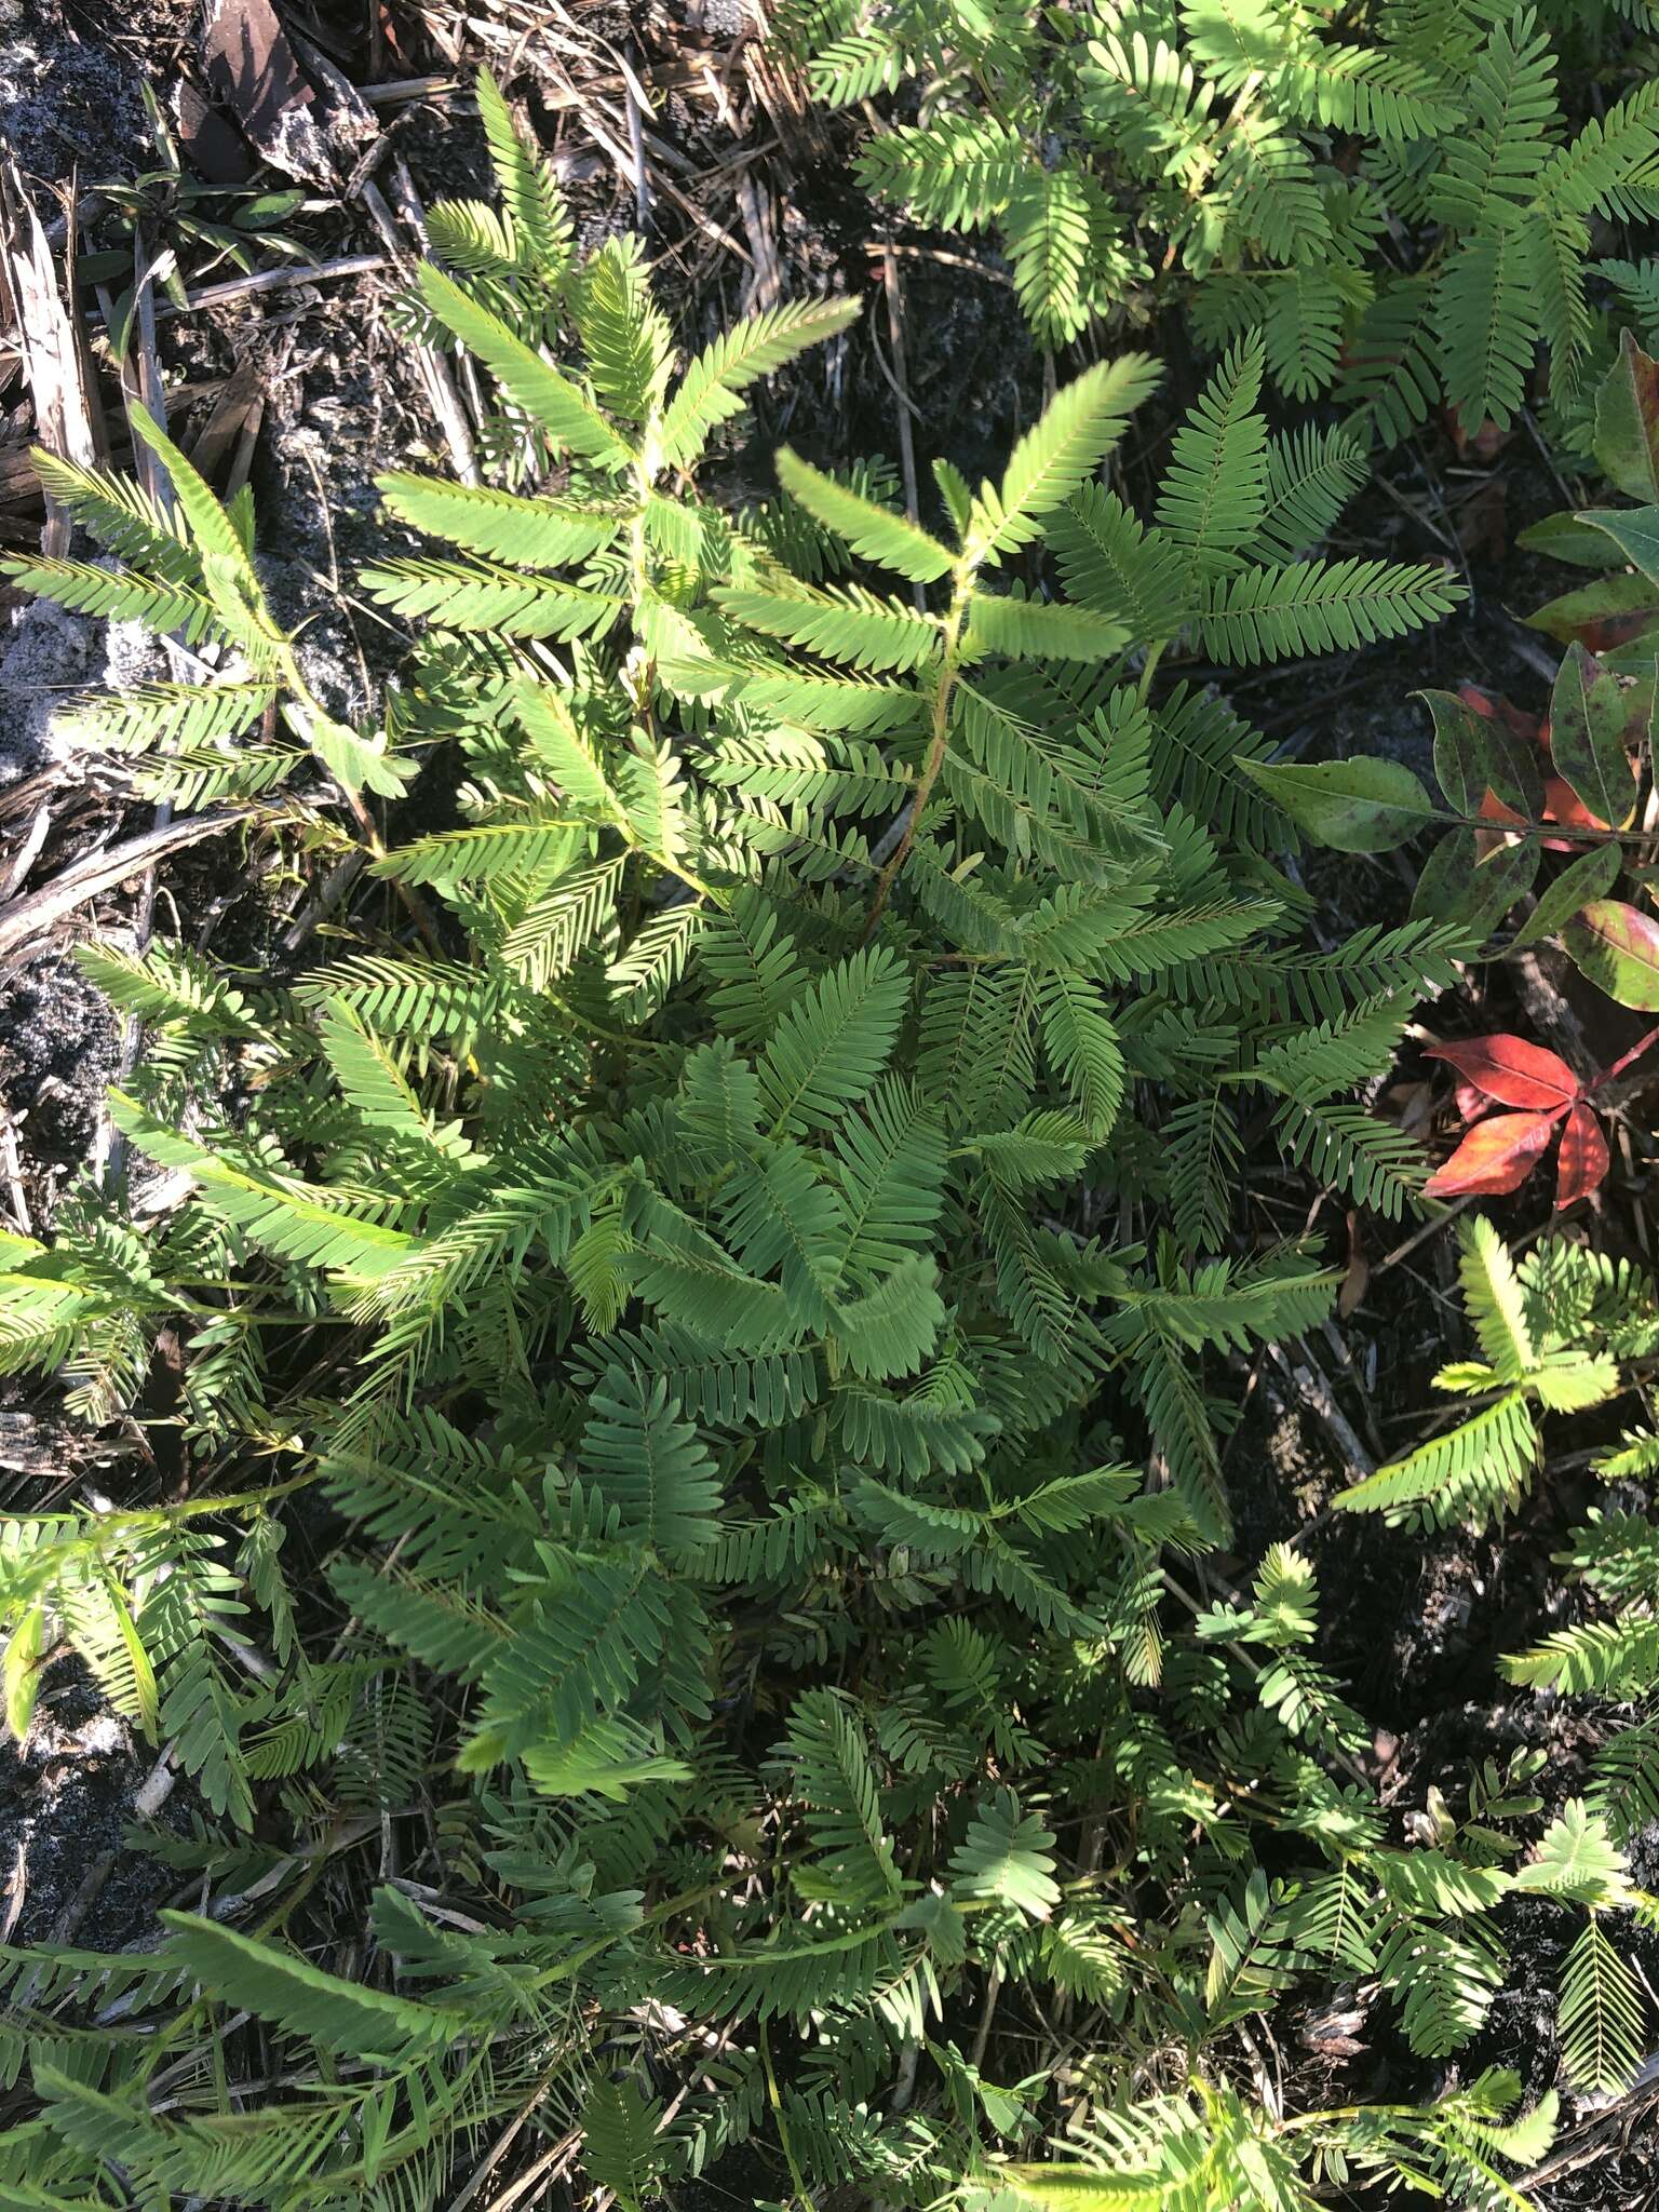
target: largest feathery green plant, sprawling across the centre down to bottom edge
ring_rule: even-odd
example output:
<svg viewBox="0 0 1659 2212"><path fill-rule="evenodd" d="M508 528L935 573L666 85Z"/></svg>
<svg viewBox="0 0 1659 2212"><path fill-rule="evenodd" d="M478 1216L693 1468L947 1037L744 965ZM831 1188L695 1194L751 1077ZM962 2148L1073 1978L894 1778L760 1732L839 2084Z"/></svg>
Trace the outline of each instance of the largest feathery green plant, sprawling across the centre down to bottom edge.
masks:
<svg viewBox="0 0 1659 2212"><path fill-rule="evenodd" d="M1453 593L1316 557L1358 453L1267 431L1254 338L1150 518L1099 480L1139 356L995 482L940 465L929 518L792 451L723 507L699 462L849 305L681 363L644 250L580 257L480 102L502 210L434 210L405 312L489 378L491 480L385 482L445 551L363 580L420 626L383 723L303 690L246 511L168 447L166 515L55 484L117 568L11 564L197 619L223 681L84 728L188 737L367 889L281 987L88 947L150 1040L133 1183L0 1243L4 1367L111 1425L170 1332L192 1467L2 1524L7 1721L66 1644L201 1805L153 1838L190 1900L155 1951L0 1947L0 2190L403 2208L511 2152L644 2208L754 2137L799 2203L1077 2201L1108 2166L1232 2212L1343 2159L1473 2194L1551 2097L1425 2073L1287 2117L1232 2062L1367 1978L1438 2066L1502 1984L1493 1907L1626 1909L1615 1845L1540 1856L1595 1893L1522 1882L1491 1838L1520 1856L1528 1805L1486 1792L1407 1847L1294 1548L1177 1617L1230 1535L1221 1360L1336 1283L1239 1234L1243 1115L1274 1175L1411 1206L1358 1093L1471 938L1312 951L1265 741L1159 684L1183 637L1358 646ZM259 787L250 686L292 759ZM405 834L440 750L451 816ZM1533 1352L1582 1292L1641 1325L1595 1267L1522 1283ZM1542 1352L1489 1356L1544 1396ZM1621 1986L1597 1949L1564 1989L1601 2079ZM1066 2115L1018 2057L1055 2008L1097 2053Z"/></svg>

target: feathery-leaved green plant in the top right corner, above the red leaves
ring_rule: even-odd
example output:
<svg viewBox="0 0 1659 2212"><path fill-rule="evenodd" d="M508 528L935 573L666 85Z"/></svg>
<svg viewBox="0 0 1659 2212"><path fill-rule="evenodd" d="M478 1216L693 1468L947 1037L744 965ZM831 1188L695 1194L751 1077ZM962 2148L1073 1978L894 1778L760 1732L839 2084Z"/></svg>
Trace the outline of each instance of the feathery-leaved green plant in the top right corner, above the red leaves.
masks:
<svg viewBox="0 0 1659 2212"><path fill-rule="evenodd" d="M1652 84L1590 104L1579 18L790 0L779 31L830 106L920 86L858 175L920 223L995 234L1042 345L1181 299L1214 345L1259 332L1287 398L1334 392L1394 445L1440 403L1471 436L1509 425L1540 343L1579 436L1608 349L1593 288L1641 292L1593 223L1641 226L1659 192Z"/></svg>

